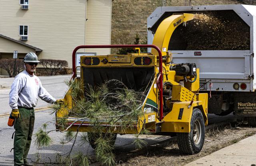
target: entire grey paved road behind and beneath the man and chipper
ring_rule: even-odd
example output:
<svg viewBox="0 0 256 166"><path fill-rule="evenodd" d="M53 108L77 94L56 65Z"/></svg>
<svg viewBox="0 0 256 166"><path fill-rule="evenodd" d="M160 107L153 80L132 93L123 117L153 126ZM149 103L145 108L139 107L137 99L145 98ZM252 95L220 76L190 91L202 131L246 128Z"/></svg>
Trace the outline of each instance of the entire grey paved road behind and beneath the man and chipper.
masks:
<svg viewBox="0 0 256 166"><path fill-rule="evenodd" d="M64 80L69 79L70 76L46 76L46 77L40 77L40 80L42 81L42 84L54 98L59 99L62 98L64 95L67 86L64 84ZM5 87L6 89L0 89L0 103L1 103L1 109L0 109L0 115L4 113L10 113L10 107L8 105L9 100L9 91L8 87L10 88L10 85L12 84L13 78L0 78L0 88ZM39 100L37 107L45 107L48 104L46 102L43 102L42 100ZM43 123L46 123L47 121L54 121L54 115L49 114L50 110L44 110L44 111L37 111L35 113L36 121L34 126L34 133L38 130L38 128L41 127ZM230 115L232 116L232 115ZM217 121L223 121L224 119L219 118L216 115L209 115L210 120L209 123L214 123ZM12 133L14 132L13 127L8 127L7 125L8 117L0 117L0 166L11 166L13 165L13 152L10 152L11 148L13 147L13 139ZM53 124L50 124L48 126L48 130L55 129L55 126ZM28 158L31 158L33 161L36 159L36 154L39 152L41 154L42 160L45 162L50 162L50 160L53 162L55 160L55 153L59 152L61 154L64 154L70 150L72 143L68 143L67 145L60 145L59 141L64 136L62 133L59 132L52 132L50 136L53 138L54 142L52 145L48 148L42 148L37 149L34 145L34 139L32 141L32 147L30 148L30 152L28 155ZM158 136L158 135L144 135L142 136L144 140L148 142L148 145L152 145L159 142L164 142L165 140L170 139L169 136ZM78 139L79 140L79 139ZM132 141L134 140L133 135L118 135L115 146L116 150L125 150L130 151L134 150L134 145L131 145ZM74 146L74 152L78 150L82 150L86 152L85 149L88 148L88 144L78 146ZM93 155L94 150L92 148L89 148L88 153L90 155ZM50 159L49 159L49 158Z"/></svg>

